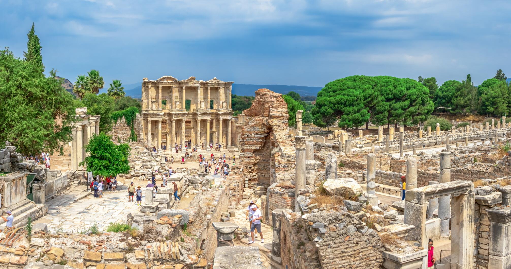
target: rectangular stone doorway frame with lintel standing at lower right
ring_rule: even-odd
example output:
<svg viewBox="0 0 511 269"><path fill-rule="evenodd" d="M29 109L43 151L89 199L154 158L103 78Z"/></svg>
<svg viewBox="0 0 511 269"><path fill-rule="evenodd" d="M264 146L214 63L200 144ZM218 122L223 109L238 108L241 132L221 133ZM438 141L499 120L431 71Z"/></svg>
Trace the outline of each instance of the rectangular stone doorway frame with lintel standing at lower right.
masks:
<svg viewBox="0 0 511 269"><path fill-rule="evenodd" d="M408 212L413 212L410 224L415 228L410 232L408 240L419 241L420 246L428 249L426 235L426 201L430 198L451 195L451 269L472 268L474 252L474 183L471 181L452 181L406 191ZM406 210L406 208L405 208ZM428 256L423 258L422 268L427 268Z"/></svg>

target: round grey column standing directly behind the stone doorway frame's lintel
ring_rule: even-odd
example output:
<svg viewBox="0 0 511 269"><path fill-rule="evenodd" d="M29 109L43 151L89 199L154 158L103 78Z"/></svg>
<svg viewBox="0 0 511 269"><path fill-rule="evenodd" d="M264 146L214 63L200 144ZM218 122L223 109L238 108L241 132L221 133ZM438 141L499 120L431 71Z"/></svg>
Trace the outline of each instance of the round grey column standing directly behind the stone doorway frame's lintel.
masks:
<svg viewBox="0 0 511 269"><path fill-rule="evenodd" d="M451 153L450 152L440 152L439 182L440 183L451 182ZM449 236L450 208L451 208L451 195L440 196L438 198L438 217L440 218L440 236L442 236L442 237ZM472 212L474 212L474 211L472 211Z"/></svg>

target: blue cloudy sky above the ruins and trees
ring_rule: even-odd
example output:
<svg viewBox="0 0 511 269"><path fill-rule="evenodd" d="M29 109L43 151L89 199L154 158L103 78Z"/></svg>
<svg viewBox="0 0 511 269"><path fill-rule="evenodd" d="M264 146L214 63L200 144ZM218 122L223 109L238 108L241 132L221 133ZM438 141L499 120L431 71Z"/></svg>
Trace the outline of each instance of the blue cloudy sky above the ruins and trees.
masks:
<svg viewBox="0 0 511 269"><path fill-rule="evenodd" d="M324 86L351 75L511 77L511 2L446 0L0 0L0 47L74 82L171 75Z"/></svg>

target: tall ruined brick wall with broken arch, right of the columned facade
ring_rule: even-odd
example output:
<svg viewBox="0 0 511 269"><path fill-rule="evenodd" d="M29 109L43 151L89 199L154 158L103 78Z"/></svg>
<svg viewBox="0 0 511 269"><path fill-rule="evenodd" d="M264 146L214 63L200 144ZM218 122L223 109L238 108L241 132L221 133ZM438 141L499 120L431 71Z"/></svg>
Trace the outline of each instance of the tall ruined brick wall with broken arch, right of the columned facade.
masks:
<svg viewBox="0 0 511 269"><path fill-rule="evenodd" d="M243 116L249 120L240 135L240 163L248 186L268 187L293 179L295 149L282 94L268 89L255 91L255 100Z"/></svg>

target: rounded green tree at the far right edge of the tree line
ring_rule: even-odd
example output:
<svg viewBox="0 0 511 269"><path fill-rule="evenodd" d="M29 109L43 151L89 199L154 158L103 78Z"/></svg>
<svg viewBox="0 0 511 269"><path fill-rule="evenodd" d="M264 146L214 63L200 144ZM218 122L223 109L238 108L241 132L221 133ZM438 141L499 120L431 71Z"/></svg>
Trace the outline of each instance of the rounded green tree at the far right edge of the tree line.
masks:
<svg viewBox="0 0 511 269"><path fill-rule="evenodd" d="M509 91L505 81L489 79L483 81L478 91L481 93L481 105L479 112L502 116L508 112Z"/></svg>

